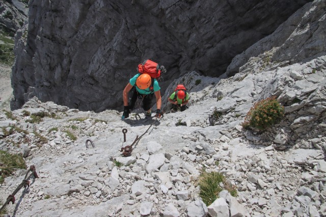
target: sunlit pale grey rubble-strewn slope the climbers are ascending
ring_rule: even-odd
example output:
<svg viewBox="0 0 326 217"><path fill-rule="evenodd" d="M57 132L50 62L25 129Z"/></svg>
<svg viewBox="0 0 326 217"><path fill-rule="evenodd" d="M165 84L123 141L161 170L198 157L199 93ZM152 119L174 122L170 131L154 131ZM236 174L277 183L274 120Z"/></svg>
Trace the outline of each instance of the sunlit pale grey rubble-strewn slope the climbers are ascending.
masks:
<svg viewBox="0 0 326 217"><path fill-rule="evenodd" d="M309 47L310 41L313 48L324 40L322 7L324 1L315 1L299 12L303 21L316 18L307 24L311 30L319 27L306 42L297 42L309 30L298 25L290 34L294 45ZM291 38L282 38L278 47L267 43L270 49L250 57L230 78L192 71L174 80L158 120L144 114L136 120L135 113L121 120L117 110L80 111L37 98L11 115L1 110L1 149L22 153L39 175L16 194L21 203L6 206L8 214L326 216L326 55L311 51L311 60L293 64L305 49L297 52ZM177 83L191 95L189 108L169 113L166 99ZM243 129L250 108L270 96L284 106L282 120L263 132ZM31 121L40 114L47 115ZM122 157L121 146L141 134L131 156ZM94 147L85 146L88 139ZM203 203L196 181L203 170L222 173L228 184L220 187L235 187L236 197L224 190L213 203ZM12 194L25 172L5 178L0 198Z"/></svg>

